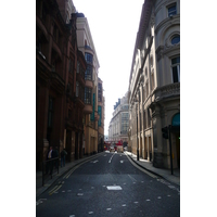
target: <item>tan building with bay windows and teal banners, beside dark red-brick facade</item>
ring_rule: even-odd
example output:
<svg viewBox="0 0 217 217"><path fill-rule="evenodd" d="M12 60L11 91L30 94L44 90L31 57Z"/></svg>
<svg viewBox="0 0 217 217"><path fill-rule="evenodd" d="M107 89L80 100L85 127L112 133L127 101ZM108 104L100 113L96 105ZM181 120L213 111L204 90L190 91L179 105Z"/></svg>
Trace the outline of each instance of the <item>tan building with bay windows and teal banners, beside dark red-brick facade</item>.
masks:
<svg viewBox="0 0 217 217"><path fill-rule="evenodd" d="M77 42L87 62L85 72L85 154L98 152L98 71L100 67L94 49L88 20L82 13L77 13Z"/></svg>

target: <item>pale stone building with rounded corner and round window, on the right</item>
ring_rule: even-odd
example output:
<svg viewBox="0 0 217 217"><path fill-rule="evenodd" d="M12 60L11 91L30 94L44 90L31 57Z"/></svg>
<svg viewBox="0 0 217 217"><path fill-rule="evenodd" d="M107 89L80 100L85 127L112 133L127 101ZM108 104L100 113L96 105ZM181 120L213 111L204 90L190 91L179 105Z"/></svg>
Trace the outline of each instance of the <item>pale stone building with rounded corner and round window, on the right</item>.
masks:
<svg viewBox="0 0 217 217"><path fill-rule="evenodd" d="M180 167L180 1L145 0L129 78L129 145L133 153L170 168Z"/></svg>

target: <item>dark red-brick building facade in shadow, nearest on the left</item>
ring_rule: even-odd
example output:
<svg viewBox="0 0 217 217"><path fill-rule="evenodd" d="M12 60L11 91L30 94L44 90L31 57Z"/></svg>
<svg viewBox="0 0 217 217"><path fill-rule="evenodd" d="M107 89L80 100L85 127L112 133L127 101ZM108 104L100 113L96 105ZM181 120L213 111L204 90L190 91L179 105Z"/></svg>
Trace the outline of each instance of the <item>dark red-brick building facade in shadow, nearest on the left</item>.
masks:
<svg viewBox="0 0 217 217"><path fill-rule="evenodd" d="M78 64L79 63L79 64ZM76 15L65 24L55 0L36 1L36 167L49 145L82 157L86 60L77 49ZM72 142L74 141L74 142Z"/></svg>

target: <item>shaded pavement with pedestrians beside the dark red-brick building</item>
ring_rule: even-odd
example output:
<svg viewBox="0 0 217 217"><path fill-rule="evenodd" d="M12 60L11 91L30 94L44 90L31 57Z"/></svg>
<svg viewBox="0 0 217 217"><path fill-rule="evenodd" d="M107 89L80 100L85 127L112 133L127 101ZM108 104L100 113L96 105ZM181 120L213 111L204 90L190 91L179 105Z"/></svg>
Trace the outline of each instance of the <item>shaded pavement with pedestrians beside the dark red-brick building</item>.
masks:
<svg viewBox="0 0 217 217"><path fill-rule="evenodd" d="M85 161L90 161L92 158L95 158L101 154L104 154L104 152L100 152L100 153L91 155L91 156L84 156L80 159L76 159L74 162L66 163L65 167L59 167L59 174L53 174L52 179L49 179L48 181L46 181L43 187L42 187L42 171L36 171L36 197L38 197L47 189L49 189L52 183L54 183L61 176L66 174L69 169L72 169L73 167L75 167L78 164L84 163Z"/></svg>

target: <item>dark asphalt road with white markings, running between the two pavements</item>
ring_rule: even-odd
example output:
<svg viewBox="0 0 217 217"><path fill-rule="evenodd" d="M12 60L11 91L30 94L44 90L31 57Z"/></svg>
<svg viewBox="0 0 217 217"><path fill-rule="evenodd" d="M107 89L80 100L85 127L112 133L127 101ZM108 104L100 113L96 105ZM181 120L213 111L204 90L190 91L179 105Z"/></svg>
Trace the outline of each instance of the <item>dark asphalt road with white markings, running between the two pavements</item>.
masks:
<svg viewBox="0 0 217 217"><path fill-rule="evenodd" d="M68 170L36 203L38 217L180 216L180 187L146 174L120 153Z"/></svg>

